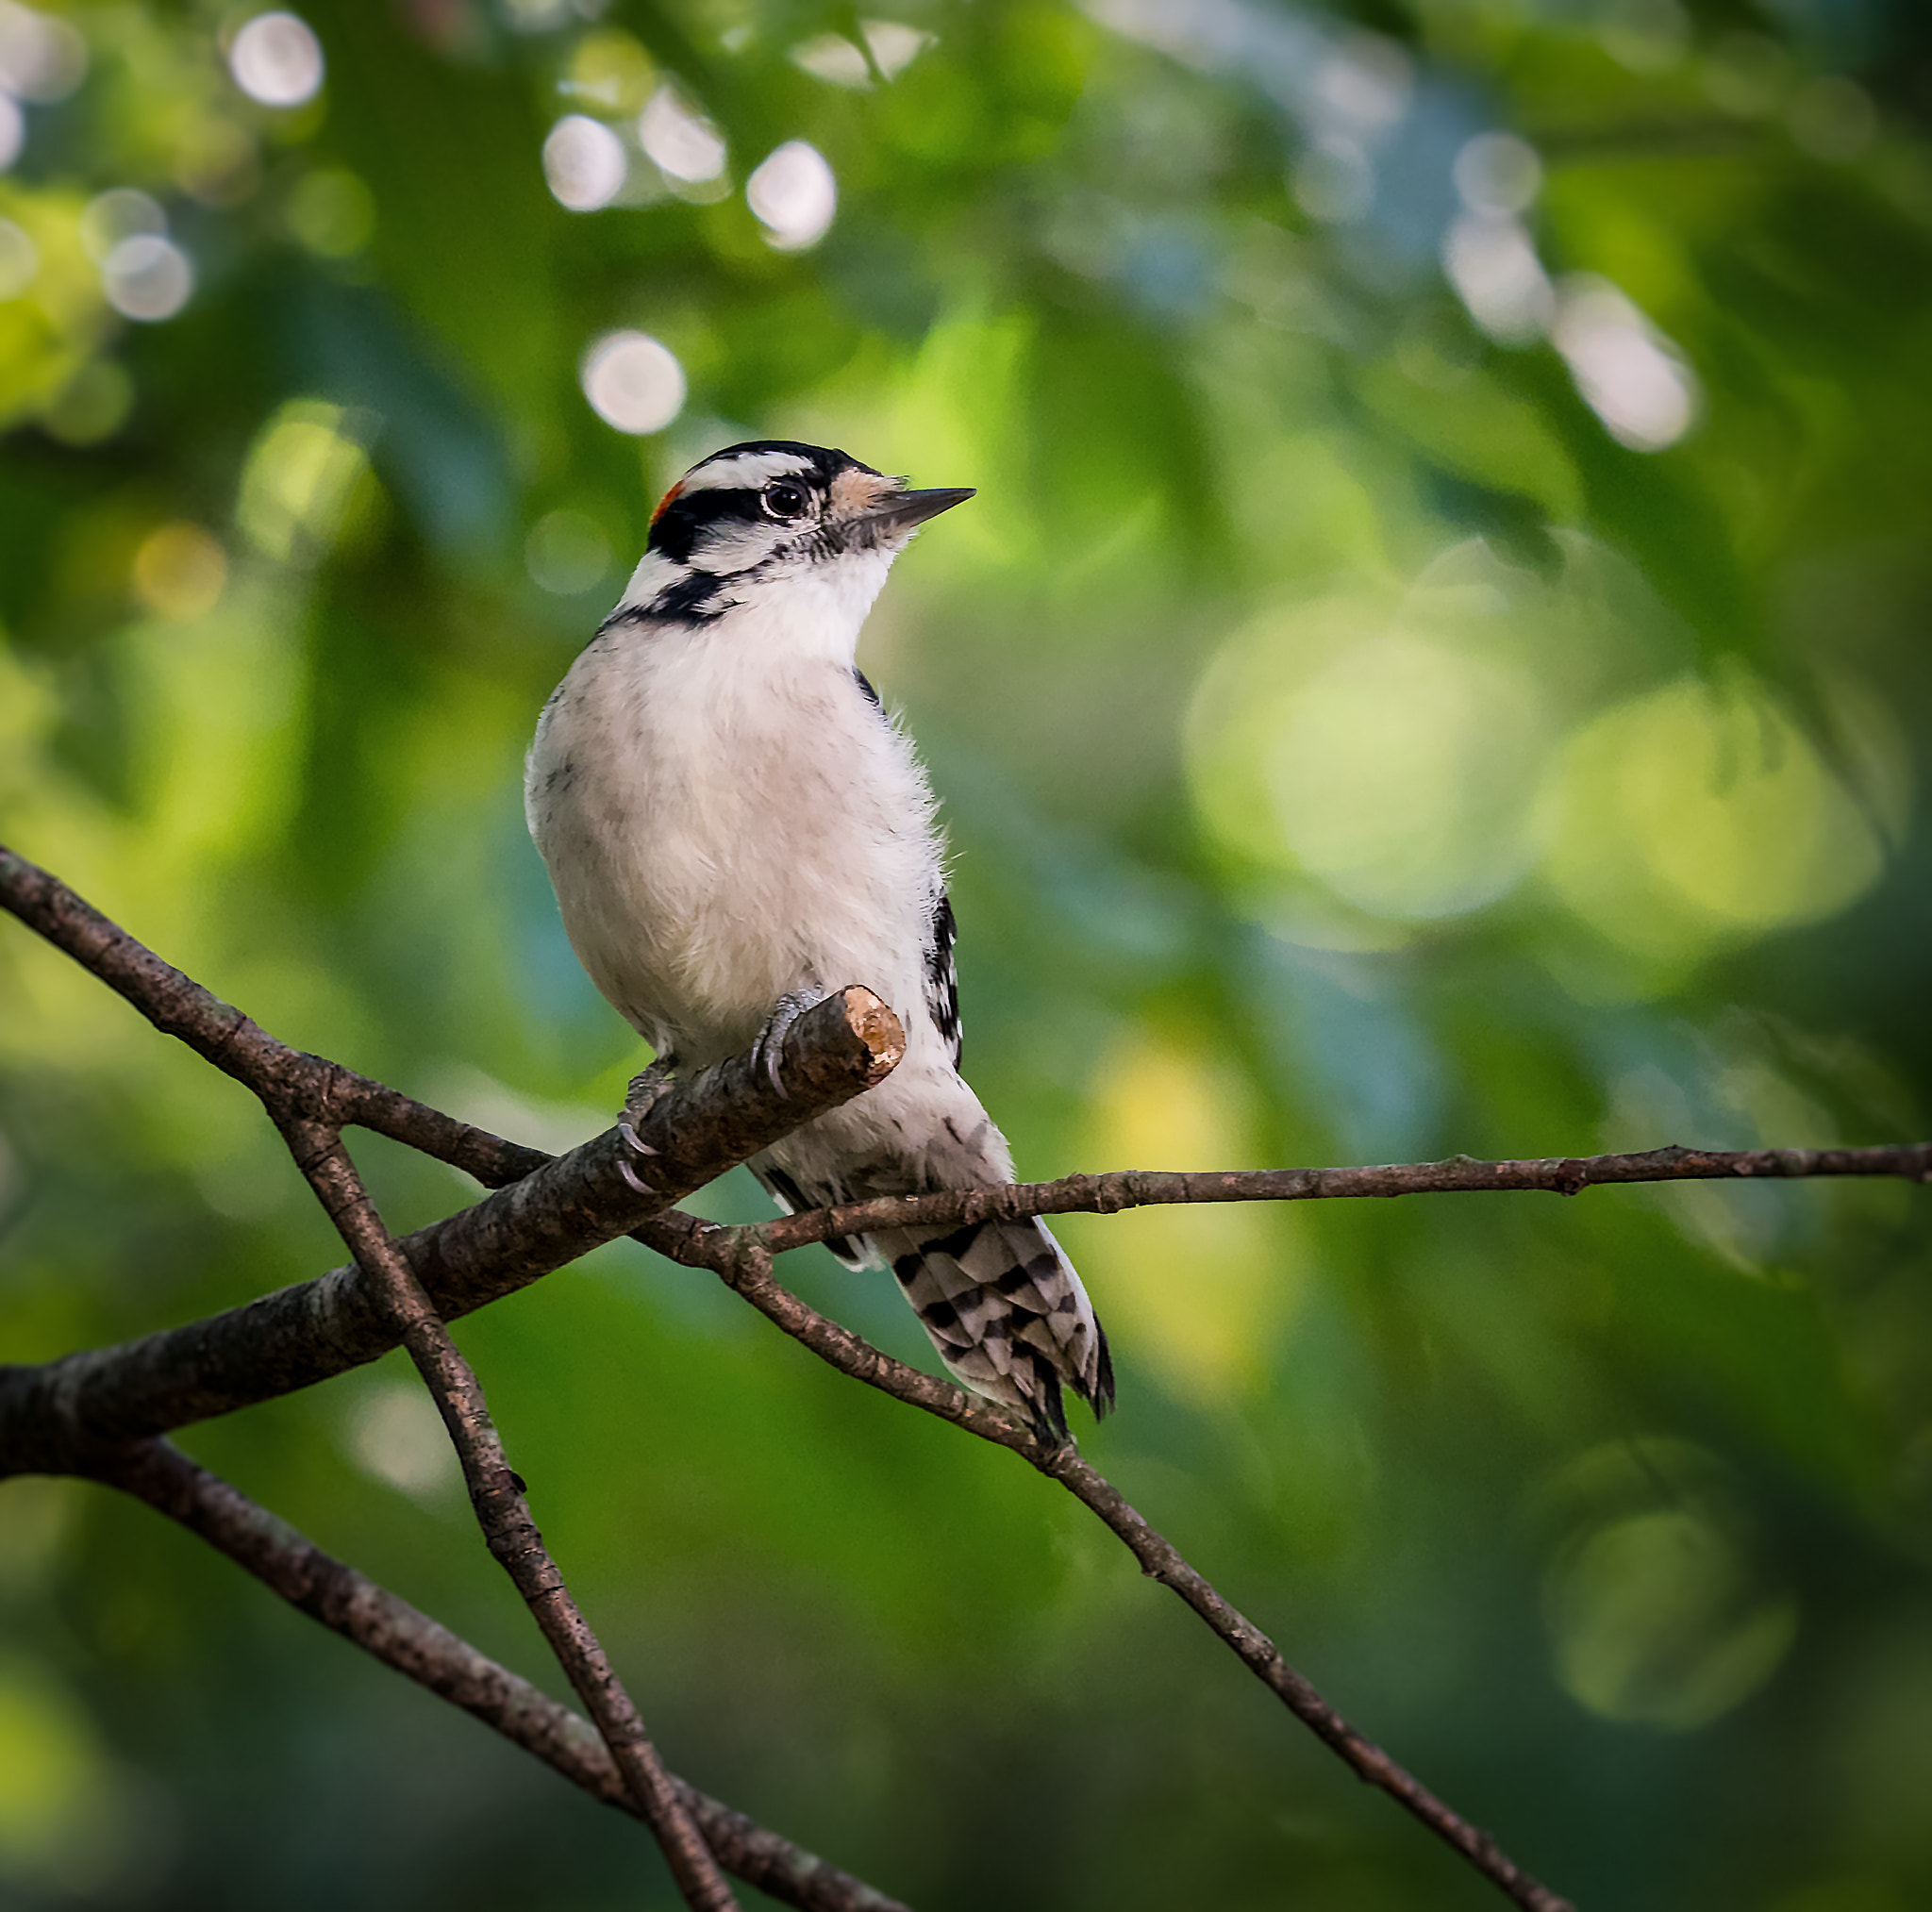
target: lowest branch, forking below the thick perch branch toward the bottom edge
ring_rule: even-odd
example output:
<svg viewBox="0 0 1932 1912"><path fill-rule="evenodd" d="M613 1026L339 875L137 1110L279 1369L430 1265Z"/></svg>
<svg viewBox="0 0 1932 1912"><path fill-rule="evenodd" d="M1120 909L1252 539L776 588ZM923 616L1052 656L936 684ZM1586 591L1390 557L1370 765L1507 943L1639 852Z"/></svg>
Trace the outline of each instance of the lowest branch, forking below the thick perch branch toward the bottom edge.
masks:
<svg viewBox="0 0 1932 1912"><path fill-rule="evenodd" d="M100 1448L87 1476L135 1495L384 1667L481 1719L574 1786L641 1819L597 1729L164 1441ZM672 1775L705 1844L800 1912L908 1912L896 1898Z"/></svg>

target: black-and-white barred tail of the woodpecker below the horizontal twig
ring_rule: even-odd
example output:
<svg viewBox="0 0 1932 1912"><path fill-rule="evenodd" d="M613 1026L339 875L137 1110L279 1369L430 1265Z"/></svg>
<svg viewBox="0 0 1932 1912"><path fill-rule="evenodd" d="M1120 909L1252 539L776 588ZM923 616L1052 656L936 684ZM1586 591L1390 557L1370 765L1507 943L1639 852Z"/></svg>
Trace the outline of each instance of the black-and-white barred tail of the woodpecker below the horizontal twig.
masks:
<svg viewBox="0 0 1932 1912"><path fill-rule="evenodd" d="M1066 1439L1063 1383L1095 1418L1113 1406L1107 1336L1043 1221L883 1228L871 1248L952 1377L1018 1408L1043 1441Z"/></svg>

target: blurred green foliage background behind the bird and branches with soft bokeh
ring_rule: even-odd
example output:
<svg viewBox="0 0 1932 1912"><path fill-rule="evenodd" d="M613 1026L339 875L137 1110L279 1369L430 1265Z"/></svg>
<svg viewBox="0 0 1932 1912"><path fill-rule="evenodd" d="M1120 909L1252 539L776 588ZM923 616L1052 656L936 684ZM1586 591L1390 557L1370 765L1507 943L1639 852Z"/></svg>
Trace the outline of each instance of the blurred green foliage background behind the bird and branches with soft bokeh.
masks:
<svg viewBox="0 0 1932 1912"><path fill-rule="evenodd" d="M240 14L71 6L0 176L0 836L280 1037L580 1139L639 1058L520 755L657 492L804 436L981 487L862 659L1022 1172L1926 1136L1924 10L879 6L929 35L889 79L815 0L342 0L294 108ZM558 205L553 122L632 139L667 77L726 176L632 151ZM1520 226L1484 131L1540 155ZM838 214L784 251L742 187L790 139ZM124 187L193 267L166 321L89 255ZM1457 232L1540 259L1490 330ZM612 328L684 367L657 435L580 390ZM1671 442L1619 442L1633 392ZM0 1064L4 1358L338 1259L247 1097L17 927ZM359 1153L396 1226L466 1199ZM1121 1364L1084 1445L1592 1912L1932 1906L1924 1217L1070 1221ZM788 1273L929 1360L879 1280ZM670 1761L881 1887L1492 1902L1070 1503L705 1277L620 1244L460 1340ZM554 1688L410 1387L184 1445ZM0 1613L8 1906L668 1902L636 1827L143 1508L0 1485Z"/></svg>

